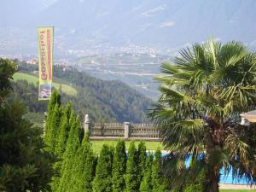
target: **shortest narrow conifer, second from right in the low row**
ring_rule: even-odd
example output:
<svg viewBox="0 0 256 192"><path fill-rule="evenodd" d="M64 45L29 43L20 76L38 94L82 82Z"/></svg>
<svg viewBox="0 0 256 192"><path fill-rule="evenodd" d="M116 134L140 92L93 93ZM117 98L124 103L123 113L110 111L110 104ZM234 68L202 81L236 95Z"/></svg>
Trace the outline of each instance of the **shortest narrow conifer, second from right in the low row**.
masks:
<svg viewBox="0 0 256 192"><path fill-rule="evenodd" d="M152 182L151 182L152 163L153 163L153 155L149 153L147 157L146 168L143 172L143 180L140 186L141 192L152 191Z"/></svg>

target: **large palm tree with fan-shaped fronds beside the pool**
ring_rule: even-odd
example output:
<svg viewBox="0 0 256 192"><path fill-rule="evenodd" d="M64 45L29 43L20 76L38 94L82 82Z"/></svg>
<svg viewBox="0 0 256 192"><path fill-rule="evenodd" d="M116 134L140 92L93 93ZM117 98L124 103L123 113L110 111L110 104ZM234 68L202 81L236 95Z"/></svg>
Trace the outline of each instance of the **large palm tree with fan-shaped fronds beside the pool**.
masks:
<svg viewBox="0 0 256 192"><path fill-rule="evenodd" d="M173 151L164 172L172 186L203 174L204 191L216 192L221 167L255 183L256 126L240 125L239 114L255 108L256 55L237 42L210 40L180 50L161 71L161 96L150 116Z"/></svg>

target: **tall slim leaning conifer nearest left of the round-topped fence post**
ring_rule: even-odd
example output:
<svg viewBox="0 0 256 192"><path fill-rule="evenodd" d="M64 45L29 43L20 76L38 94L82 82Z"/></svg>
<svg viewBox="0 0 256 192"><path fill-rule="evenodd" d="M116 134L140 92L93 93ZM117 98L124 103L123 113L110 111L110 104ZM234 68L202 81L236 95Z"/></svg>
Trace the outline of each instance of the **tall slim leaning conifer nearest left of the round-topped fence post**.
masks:
<svg viewBox="0 0 256 192"><path fill-rule="evenodd" d="M72 124L69 136L67 138L66 151L63 154L63 163L61 166L61 179L57 191L67 191L70 178L73 175L73 158L80 146L80 121L79 117L75 119L72 111L70 123Z"/></svg>

